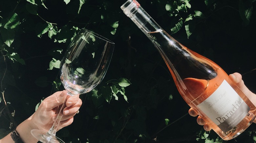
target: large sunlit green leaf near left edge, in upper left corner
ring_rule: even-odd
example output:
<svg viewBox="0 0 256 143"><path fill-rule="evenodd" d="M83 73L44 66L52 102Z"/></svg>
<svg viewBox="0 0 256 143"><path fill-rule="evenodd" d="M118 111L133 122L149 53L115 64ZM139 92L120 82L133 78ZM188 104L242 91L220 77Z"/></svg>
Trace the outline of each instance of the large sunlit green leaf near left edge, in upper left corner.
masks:
<svg viewBox="0 0 256 143"><path fill-rule="evenodd" d="M19 25L19 16L16 13L13 13L11 17L9 17L4 25L4 28L8 30L15 30Z"/></svg>

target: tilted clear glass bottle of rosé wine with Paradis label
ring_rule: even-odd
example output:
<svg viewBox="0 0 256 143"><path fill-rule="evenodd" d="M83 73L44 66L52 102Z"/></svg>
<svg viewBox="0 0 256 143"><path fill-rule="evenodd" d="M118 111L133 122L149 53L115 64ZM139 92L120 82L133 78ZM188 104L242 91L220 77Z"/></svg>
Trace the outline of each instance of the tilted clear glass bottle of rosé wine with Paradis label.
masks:
<svg viewBox="0 0 256 143"><path fill-rule="evenodd" d="M220 66L172 38L136 0L128 0L121 9L155 45L184 101L222 139L245 131L255 119L256 107Z"/></svg>

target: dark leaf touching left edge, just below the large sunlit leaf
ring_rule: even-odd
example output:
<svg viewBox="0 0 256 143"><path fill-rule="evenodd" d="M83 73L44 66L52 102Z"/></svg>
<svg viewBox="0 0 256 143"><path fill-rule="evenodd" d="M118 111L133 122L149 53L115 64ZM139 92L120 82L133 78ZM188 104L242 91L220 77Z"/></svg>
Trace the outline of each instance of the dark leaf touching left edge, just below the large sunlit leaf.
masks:
<svg viewBox="0 0 256 143"><path fill-rule="evenodd" d="M3 38L3 42L8 47L10 47L11 43L14 41L15 31L13 29L6 29L4 27L1 27L0 32Z"/></svg>

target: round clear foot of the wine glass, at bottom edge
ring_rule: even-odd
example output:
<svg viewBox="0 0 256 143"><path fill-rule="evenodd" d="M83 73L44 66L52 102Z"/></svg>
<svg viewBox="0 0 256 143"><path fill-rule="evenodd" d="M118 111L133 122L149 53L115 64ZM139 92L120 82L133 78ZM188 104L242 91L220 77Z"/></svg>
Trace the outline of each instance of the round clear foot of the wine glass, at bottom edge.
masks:
<svg viewBox="0 0 256 143"><path fill-rule="evenodd" d="M33 129L31 134L42 143L65 143L55 135L50 135L47 132Z"/></svg>

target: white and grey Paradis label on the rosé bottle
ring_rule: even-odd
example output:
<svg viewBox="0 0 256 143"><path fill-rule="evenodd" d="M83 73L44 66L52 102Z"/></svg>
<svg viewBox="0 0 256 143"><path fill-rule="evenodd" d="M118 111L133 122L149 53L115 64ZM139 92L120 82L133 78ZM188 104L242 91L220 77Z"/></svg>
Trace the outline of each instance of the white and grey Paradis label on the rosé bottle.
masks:
<svg viewBox="0 0 256 143"><path fill-rule="evenodd" d="M197 107L225 133L241 122L250 110L226 80Z"/></svg>

